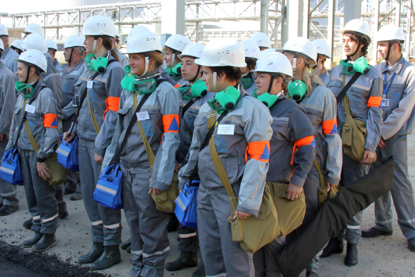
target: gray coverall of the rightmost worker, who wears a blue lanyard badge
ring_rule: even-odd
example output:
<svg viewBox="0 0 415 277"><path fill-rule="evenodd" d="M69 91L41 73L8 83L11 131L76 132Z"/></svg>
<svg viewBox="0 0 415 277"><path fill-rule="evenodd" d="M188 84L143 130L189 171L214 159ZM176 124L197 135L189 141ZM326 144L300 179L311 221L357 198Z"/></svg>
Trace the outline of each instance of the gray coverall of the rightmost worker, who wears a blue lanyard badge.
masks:
<svg viewBox="0 0 415 277"><path fill-rule="evenodd" d="M376 149L378 160L370 167L370 170L376 170L393 157L394 188L375 202L375 228L380 231L392 231L392 197L400 230L409 240L415 237L414 188L409 180L407 154L407 135L412 133L415 119L415 66L401 57L390 70L386 62L377 64L376 68L385 76L384 87L390 84L395 73L396 76L389 90L383 91L385 98L389 99L389 106L382 106L382 139L385 148Z"/></svg>

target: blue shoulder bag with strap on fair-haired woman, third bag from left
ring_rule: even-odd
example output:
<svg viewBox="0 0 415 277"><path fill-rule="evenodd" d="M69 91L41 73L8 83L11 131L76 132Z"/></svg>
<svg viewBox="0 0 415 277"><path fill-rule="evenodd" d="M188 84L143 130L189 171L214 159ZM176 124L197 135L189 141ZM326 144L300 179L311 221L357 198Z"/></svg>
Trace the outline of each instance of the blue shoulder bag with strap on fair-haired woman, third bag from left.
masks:
<svg viewBox="0 0 415 277"><path fill-rule="evenodd" d="M95 187L92 198L95 200L95 202L98 202L102 206L113 209L124 208L122 205L121 197L122 171L120 166L120 155L125 145L127 144L127 139L129 134L131 134L131 129L133 129L133 125L136 123L137 112L140 111L142 105L144 105L145 101L149 98L150 95L151 93L146 94L141 98L136 111L134 111L127 130L125 131L124 139L122 139L120 148L117 148L113 158L109 163L109 167L105 168L105 170L102 171L101 177L98 180L98 184Z"/></svg>

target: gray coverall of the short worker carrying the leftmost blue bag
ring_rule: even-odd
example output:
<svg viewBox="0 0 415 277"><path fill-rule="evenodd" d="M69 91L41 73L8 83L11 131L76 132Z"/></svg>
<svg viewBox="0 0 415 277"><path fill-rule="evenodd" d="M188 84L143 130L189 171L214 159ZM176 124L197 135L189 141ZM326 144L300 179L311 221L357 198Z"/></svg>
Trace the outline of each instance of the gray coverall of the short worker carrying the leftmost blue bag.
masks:
<svg viewBox="0 0 415 277"><path fill-rule="evenodd" d="M57 102L52 91L47 87L42 89L42 86L44 86L44 83L41 78L37 82L35 92L27 100L27 104L29 104L34 99L30 104L35 107L33 114L24 111L24 97L22 94L17 99L16 107L13 110L10 141L6 150L10 150L15 145L17 129L23 116L26 114L30 132L40 148L36 154L28 139L26 127L23 125L17 148L19 148L19 157L21 159L24 191L29 213L32 216L32 230L39 233L53 234L57 229L58 208L57 199L55 199L57 188L50 186L48 181L39 177L37 173L37 158L48 158L53 153L54 147L59 140ZM50 118L53 120L50 120Z"/></svg>

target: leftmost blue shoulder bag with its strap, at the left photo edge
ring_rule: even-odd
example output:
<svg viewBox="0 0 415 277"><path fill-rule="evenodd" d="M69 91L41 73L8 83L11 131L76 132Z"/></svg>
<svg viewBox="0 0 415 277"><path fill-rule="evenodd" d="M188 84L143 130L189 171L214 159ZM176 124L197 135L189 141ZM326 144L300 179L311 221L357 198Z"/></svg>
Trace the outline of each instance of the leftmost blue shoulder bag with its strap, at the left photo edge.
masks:
<svg viewBox="0 0 415 277"><path fill-rule="evenodd" d="M42 87L43 89L43 87ZM35 99L30 100L29 105ZM26 109L26 99L23 104L23 111ZM21 174L19 151L17 150L17 141L19 141L19 136L21 128L23 127L24 121L26 120L26 111L24 111L23 119L21 120L20 126L17 129L17 138L15 139L15 145L10 150L7 150L3 154L3 159L0 166L0 177L1 179L8 181L12 185L18 185L23 183L23 175Z"/></svg>

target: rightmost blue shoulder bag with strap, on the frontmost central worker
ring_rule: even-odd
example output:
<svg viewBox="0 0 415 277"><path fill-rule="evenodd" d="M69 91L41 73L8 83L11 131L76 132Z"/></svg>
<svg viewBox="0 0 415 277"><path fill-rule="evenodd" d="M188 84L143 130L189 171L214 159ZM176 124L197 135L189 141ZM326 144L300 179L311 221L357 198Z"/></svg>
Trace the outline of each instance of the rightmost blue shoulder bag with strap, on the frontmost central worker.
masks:
<svg viewBox="0 0 415 277"><path fill-rule="evenodd" d="M216 123L221 122L222 118L224 118L228 114L228 111L223 111L221 116L219 116ZM214 126L210 127L208 135L203 141L199 152L201 152L206 146L208 146L210 138L212 138L212 134L214 132ZM199 172L198 162L194 166L192 175L190 175L189 181L185 184L182 192L176 198L176 208L174 209L174 213L183 226L187 228L197 229L197 217L196 217L196 208L197 208L197 193L199 191L199 184L201 181L197 176Z"/></svg>

